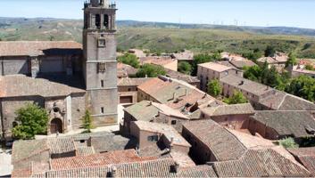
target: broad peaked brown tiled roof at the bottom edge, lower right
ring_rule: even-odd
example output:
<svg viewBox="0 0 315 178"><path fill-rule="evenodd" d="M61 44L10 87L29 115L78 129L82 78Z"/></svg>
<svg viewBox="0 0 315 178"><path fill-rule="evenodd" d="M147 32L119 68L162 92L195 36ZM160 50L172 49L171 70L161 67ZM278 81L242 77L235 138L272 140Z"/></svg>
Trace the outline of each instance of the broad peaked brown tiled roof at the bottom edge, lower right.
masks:
<svg viewBox="0 0 315 178"><path fill-rule="evenodd" d="M301 177L310 175L303 166L295 164L271 149L248 150L238 160L215 162L213 166L220 177Z"/></svg>

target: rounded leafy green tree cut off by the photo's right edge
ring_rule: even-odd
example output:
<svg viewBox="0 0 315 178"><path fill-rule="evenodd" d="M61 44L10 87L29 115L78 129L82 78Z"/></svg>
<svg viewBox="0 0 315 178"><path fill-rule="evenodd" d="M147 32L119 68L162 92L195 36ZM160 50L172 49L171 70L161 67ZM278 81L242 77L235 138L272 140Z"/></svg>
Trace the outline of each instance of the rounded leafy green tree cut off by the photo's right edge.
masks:
<svg viewBox="0 0 315 178"><path fill-rule="evenodd" d="M308 101L315 101L315 79L308 76L296 77L286 86L286 93L294 94Z"/></svg>

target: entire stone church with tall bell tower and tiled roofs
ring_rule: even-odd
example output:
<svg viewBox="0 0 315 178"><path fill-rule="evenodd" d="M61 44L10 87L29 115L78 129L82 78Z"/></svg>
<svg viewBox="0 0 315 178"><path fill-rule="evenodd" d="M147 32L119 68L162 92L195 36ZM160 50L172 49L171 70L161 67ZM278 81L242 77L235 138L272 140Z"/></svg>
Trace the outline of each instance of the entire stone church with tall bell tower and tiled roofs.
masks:
<svg viewBox="0 0 315 178"><path fill-rule="evenodd" d="M37 103L49 114L48 134L117 122L116 5L84 4L83 46L76 42L0 42L0 134L12 135L15 111Z"/></svg>

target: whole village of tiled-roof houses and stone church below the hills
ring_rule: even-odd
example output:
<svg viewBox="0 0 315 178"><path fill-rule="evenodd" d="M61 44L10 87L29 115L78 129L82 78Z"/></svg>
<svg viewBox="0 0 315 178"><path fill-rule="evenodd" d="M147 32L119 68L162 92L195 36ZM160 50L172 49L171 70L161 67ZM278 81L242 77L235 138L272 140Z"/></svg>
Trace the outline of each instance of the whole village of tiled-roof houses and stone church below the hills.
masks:
<svg viewBox="0 0 315 178"><path fill-rule="evenodd" d="M116 10L84 4L83 44L0 42L0 175L315 176L315 59L117 52Z"/></svg>

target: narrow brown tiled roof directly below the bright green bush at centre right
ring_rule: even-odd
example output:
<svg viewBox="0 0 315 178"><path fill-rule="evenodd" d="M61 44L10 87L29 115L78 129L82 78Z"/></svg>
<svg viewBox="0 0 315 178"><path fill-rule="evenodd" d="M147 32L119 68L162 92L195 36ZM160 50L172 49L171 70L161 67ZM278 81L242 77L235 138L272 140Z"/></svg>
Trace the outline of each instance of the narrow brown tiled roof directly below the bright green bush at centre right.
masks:
<svg viewBox="0 0 315 178"><path fill-rule="evenodd" d="M202 112L208 116L226 116L226 115L242 115L254 114L255 111L250 103L234 104L234 105L220 105L217 107L206 107L201 109Z"/></svg>

